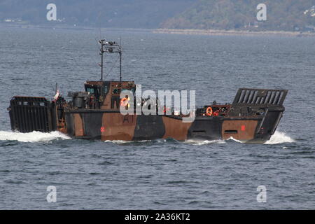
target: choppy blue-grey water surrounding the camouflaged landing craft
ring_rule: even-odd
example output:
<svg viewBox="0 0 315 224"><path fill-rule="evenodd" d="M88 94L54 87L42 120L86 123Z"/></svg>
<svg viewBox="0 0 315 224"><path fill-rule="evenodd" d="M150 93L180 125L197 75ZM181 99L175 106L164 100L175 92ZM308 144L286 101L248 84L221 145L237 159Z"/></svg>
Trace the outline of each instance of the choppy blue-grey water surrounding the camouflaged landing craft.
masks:
<svg viewBox="0 0 315 224"><path fill-rule="evenodd" d="M0 209L314 209L315 38L102 35L122 37L125 79L197 90L199 105L232 102L239 87L288 89L276 134L241 144L10 132L13 95L50 99L56 82L66 95L99 78L99 31L0 28ZM256 201L261 185L266 203ZM57 187L56 203L47 186Z"/></svg>

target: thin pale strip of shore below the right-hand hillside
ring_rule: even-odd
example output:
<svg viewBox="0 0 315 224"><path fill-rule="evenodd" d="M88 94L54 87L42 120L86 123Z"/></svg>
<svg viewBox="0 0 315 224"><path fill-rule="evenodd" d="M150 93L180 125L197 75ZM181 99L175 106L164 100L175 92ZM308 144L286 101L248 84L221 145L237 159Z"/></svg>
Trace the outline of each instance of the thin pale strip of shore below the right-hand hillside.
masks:
<svg viewBox="0 0 315 224"><path fill-rule="evenodd" d="M315 36L315 33L298 31L238 31L220 29L154 29L155 34L188 34L209 36Z"/></svg>

